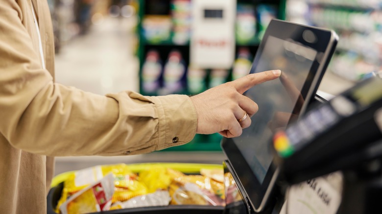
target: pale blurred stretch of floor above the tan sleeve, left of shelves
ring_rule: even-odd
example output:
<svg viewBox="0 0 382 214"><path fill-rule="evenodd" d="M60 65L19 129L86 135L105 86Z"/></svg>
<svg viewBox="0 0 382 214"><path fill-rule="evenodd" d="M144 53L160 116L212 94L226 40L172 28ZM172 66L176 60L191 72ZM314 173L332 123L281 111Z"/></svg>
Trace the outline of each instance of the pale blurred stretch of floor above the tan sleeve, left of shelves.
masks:
<svg viewBox="0 0 382 214"><path fill-rule="evenodd" d="M137 91L133 22L107 18L64 44L56 54L56 81L101 95Z"/></svg>

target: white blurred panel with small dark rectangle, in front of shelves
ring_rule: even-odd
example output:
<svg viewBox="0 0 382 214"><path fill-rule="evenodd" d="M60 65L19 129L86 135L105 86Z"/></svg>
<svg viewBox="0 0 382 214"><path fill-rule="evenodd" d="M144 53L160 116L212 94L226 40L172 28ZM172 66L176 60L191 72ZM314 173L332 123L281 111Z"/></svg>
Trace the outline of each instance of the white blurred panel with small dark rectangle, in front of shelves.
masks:
<svg viewBox="0 0 382 214"><path fill-rule="evenodd" d="M235 59L236 0L193 0L191 65L232 67Z"/></svg>

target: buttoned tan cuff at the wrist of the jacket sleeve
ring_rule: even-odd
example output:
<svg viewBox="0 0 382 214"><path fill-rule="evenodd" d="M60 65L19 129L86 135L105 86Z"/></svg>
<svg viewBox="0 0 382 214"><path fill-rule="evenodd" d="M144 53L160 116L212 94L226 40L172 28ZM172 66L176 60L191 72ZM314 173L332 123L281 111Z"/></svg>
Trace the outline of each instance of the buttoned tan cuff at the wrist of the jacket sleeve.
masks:
<svg viewBox="0 0 382 214"><path fill-rule="evenodd" d="M190 142L196 134L197 115L187 95L150 97L159 116L158 150Z"/></svg>

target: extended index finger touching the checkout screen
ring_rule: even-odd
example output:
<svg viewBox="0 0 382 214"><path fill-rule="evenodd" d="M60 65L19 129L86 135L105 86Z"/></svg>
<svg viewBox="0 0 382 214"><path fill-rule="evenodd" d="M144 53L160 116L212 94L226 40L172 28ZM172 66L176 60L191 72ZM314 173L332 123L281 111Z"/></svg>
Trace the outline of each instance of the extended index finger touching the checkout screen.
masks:
<svg viewBox="0 0 382 214"><path fill-rule="evenodd" d="M280 70L268 70L255 74L248 74L233 81L236 90L242 94L252 86L280 77Z"/></svg>

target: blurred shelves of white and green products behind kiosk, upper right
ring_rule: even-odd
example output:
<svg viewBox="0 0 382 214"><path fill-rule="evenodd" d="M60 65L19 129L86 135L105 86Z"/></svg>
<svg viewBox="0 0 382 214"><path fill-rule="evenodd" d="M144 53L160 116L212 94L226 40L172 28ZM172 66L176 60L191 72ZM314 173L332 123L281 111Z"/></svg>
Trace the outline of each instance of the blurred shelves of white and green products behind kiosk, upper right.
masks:
<svg viewBox="0 0 382 214"><path fill-rule="evenodd" d="M382 69L381 3L381 0L289 0L287 19L334 29L340 39L329 70L358 81Z"/></svg>

